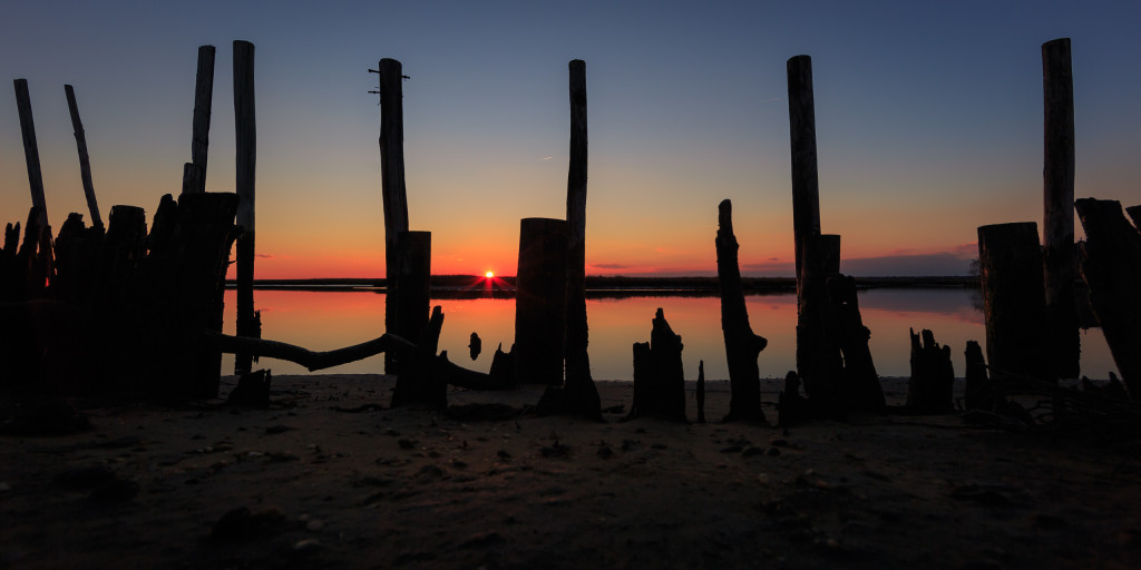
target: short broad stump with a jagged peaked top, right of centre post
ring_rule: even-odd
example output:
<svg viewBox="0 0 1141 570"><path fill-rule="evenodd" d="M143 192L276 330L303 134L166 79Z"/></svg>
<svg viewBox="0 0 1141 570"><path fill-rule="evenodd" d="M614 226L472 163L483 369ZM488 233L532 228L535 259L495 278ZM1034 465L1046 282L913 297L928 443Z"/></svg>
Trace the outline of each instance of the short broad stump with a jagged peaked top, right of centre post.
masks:
<svg viewBox="0 0 1141 570"><path fill-rule="evenodd" d="M649 342L636 342L634 398L626 420L655 417L686 422L686 381L681 336L673 333L662 309L654 316Z"/></svg>

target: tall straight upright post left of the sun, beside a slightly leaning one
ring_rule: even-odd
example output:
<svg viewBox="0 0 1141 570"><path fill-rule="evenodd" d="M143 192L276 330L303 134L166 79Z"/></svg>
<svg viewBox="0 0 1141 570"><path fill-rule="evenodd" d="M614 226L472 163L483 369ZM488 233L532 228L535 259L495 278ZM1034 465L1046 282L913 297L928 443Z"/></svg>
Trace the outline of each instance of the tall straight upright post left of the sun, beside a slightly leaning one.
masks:
<svg viewBox="0 0 1141 570"><path fill-rule="evenodd" d="M253 44L234 41L234 128L237 137L237 335L261 335L253 312L254 258L254 172L258 158L258 130L253 95ZM235 355L234 374L250 372L251 357Z"/></svg>

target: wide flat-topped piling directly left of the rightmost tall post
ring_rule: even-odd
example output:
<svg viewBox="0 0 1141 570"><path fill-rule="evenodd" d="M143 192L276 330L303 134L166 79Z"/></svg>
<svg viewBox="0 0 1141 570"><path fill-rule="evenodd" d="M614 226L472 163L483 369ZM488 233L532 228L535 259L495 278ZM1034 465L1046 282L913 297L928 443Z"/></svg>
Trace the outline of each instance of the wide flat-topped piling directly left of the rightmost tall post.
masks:
<svg viewBox="0 0 1141 570"><path fill-rule="evenodd" d="M990 378L1057 380L1045 360L1045 293L1034 222L981 226L979 266Z"/></svg>

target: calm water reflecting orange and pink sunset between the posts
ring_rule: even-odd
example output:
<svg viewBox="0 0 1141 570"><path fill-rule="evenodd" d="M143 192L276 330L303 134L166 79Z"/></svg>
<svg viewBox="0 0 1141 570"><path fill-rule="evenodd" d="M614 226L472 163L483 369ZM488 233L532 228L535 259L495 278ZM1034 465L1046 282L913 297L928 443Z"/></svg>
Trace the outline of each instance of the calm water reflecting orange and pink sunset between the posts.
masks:
<svg viewBox="0 0 1141 570"><path fill-rule="evenodd" d="M872 329L872 356L882 376L908 376L911 368L909 327L930 328L936 341L952 347L956 375L963 374L966 341L985 340L982 314L972 294L960 288L872 290L859 293L864 324ZM257 291L261 309L262 336L299 344L309 350L333 350L374 339L385 332L385 295L374 292ZM513 299L437 300L444 309L440 350L453 363L486 372L499 343L509 349L515 337ZM795 368L796 298L794 294L746 298L753 332L769 340L761 352L763 377L783 377ZM226 332L234 333L234 291L226 292ZM650 320L661 307L685 350L686 377L697 377L697 361L705 361L705 377L727 378L721 336L720 299L691 296L642 296L586 301L590 324L590 360L596 380L633 377L634 342L649 341ZM472 332L483 340L483 353L472 361L468 340ZM309 374L292 363L264 359L260 367L275 374ZM234 369L233 356L222 361L222 373ZM377 374L383 356L319 370L324 373ZM1098 328L1082 333L1082 372L1094 378L1116 372L1104 337Z"/></svg>

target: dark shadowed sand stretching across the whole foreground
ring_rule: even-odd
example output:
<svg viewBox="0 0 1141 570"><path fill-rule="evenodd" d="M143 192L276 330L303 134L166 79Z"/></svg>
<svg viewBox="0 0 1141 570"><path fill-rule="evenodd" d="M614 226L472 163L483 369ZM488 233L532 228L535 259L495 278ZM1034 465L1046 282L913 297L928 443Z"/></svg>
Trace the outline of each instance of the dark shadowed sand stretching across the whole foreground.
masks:
<svg viewBox="0 0 1141 570"><path fill-rule="evenodd" d="M92 431L0 435L0 567L1141 568L1138 441L956 415L458 420L387 409L391 385L276 377L270 409L79 401ZM629 408L631 384L599 389ZM710 392L720 418L728 384Z"/></svg>

